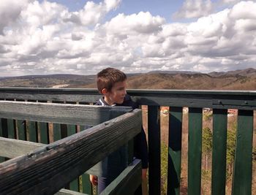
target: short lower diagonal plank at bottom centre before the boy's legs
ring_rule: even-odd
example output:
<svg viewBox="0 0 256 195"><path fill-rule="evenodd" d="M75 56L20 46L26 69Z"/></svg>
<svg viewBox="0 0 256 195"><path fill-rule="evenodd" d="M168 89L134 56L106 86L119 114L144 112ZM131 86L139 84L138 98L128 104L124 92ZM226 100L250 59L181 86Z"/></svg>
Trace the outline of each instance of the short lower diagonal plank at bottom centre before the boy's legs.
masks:
<svg viewBox="0 0 256 195"><path fill-rule="evenodd" d="M133 164L124 169L121 174L113 180L110 185L102 191L101 195L122 194L130 195L140 186L141 183L141 163L135 159Z"/></svg>

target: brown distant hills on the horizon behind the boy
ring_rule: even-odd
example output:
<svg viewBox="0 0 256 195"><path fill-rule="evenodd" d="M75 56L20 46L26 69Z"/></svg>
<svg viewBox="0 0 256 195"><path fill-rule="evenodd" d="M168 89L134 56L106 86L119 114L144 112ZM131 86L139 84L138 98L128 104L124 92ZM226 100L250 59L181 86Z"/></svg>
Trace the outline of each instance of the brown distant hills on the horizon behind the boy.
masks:
<svg viewBox="0 0 256 195"><path fill-rule="evenodd" d="M128 88L256 90L256 69L229 72L157 71L127 74ZM0 77L1 87L96 88L95 75L49 74Z"/></svg>

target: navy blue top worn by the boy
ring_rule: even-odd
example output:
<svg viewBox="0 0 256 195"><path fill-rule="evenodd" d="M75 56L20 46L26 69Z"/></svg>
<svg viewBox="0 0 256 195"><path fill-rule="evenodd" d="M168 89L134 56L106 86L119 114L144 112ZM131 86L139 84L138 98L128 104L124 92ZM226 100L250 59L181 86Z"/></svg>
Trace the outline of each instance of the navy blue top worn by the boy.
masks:
<svg viewBox="0 0 256 195"><path fill-rule="evenodd" d="M109 106L103 97L99 99L95 105ZM133 102L129 95L125 96L124 102L122 104L115 104L114 106L132 107L132 109L138 108L138 104ZM148 168L148 145L146 142L146 134L143 128L141 128L140 133L135 136L134 155L136 158L141 160L143 169Z"/></svg>

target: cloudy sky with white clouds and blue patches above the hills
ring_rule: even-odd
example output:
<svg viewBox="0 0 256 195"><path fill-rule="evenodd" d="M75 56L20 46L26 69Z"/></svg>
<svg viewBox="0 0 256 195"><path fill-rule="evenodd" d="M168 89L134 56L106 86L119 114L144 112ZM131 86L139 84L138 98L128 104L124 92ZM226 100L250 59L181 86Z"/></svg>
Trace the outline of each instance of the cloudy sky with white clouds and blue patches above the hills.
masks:
<svg viewBox="0 0 256 195"><path fill-rule="evenodd" d="M1 0L0 77L256 68L256 0Z"/></svg>

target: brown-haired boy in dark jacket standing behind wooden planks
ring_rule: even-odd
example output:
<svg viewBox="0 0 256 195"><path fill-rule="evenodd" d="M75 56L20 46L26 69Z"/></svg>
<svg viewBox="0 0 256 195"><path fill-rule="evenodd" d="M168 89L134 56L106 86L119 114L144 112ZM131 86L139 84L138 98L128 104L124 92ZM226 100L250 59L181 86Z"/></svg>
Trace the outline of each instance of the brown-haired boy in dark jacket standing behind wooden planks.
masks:
<svg viewBox="0 0 256 195"><path fill-rule="evenodd" d="M107 68L103 69L97 74L97 88L99 93L103 95L101 99L96 103L96 105L102 106L128 106L132 109L138 108L138 104L132 102L132 99L127 95L127 76L124 72L118 69ZM106 172L103 177L97 178L97 176L90 175L91 183L95 186L98 185L98 191L101 193L104 188L110 184L113 179L120 174L121 170L113 171L117 167L110 162L111 159L115 163L116 156L121 156L124 150L122 148L113 154L110 154L108 160L103 160L102 164L105 164L103 169L111 169L111 171ZM141 129L140 134L138 134L134 139L134 155L136 158L141 159L142 162L142 179L146 179L146 172L148 169L148 147L146 143L146 134L143 129ZM120 157L118 157L120 158ZM107 164L107 165L106 165ZM121 169L124 169L122 167Z"/></svg>

